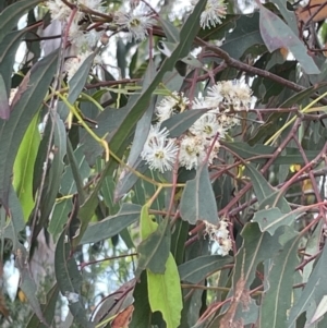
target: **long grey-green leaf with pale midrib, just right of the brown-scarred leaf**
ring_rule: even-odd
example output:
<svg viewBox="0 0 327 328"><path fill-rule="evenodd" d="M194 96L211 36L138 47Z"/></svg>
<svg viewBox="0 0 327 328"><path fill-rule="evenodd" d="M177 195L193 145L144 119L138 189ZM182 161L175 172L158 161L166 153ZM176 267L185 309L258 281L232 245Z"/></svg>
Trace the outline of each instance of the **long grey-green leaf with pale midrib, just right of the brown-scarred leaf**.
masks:
<svg viewBox="0 0 327 328"><path fill-rule="evenodd" d="M294 269L299 265L299 234L287 228L292 235L283 250L265 263L265 291L262 300L259 327L286 327L287 313L291 304Z"/></svg>

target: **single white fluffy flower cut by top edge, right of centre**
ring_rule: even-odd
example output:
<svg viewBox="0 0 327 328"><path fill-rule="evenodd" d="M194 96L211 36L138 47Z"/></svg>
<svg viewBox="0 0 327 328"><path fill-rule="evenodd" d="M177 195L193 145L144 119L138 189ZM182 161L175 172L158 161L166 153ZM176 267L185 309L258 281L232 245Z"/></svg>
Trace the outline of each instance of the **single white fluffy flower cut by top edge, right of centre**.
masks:
<svg viewBox="0 0 327 328"><path fill-rule="evenodd" d="M195 5L198 0L193 0L192 4ZM210 28L211 26L221 24L221 20L227 14L227 7L223 3L223 0L207 0L205 10L201 14L199 25L202 28Z"/></svg>

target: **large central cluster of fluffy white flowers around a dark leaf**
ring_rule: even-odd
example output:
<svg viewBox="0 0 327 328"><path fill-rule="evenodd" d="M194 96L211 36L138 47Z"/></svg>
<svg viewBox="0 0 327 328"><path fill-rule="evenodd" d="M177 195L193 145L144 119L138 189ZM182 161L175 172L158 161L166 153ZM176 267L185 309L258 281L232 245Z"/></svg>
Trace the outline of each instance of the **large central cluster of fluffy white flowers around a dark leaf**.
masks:
<svg viewBox="0 0 327 328"><path fill-rule="evenodd" d="M240 123L239 110L247 110L252 100L251 88L239 82L222 81L208 88L207 96L192 104L182 93L172 93L156 107L158 123L152 126L141 157L150 169L169 171L178 160L179 167L196 169L207 159L211 165L218 156L219 141L228 130ZM169 137L169 131L160 124L185 110L207 109L198 120L179 138ZM178 155L178 156L177 156ZM178 157L178 158L177 158Z"/></svg>

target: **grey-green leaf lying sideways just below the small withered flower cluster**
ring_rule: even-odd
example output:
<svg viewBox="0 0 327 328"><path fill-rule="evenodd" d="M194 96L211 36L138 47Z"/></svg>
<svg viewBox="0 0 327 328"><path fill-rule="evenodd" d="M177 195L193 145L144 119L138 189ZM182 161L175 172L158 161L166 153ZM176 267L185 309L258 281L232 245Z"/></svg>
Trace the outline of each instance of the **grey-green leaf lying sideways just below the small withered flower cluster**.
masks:
<svg viewBox="0 0 327 328"><path fill-rule="evenodd" d="M206 277L221 270L221 268L233 262L230 256L205 255L199 256L179 266L182 281L198 283Z"/></svg>

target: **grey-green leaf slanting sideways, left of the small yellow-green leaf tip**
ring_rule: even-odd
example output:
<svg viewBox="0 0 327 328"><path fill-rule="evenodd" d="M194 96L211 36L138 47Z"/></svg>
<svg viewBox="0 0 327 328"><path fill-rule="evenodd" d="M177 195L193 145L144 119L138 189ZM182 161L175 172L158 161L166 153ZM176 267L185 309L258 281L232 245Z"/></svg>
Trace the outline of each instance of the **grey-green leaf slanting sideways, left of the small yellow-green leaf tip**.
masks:
<svg viewBox="0 0 327 328"><path fill-rule="evenodd" d="M117 215L108 217L100 222L89 224L81 244L96 243L118 234L124 228L138 220L140 212L140 205L123 204Z"/></svg>

